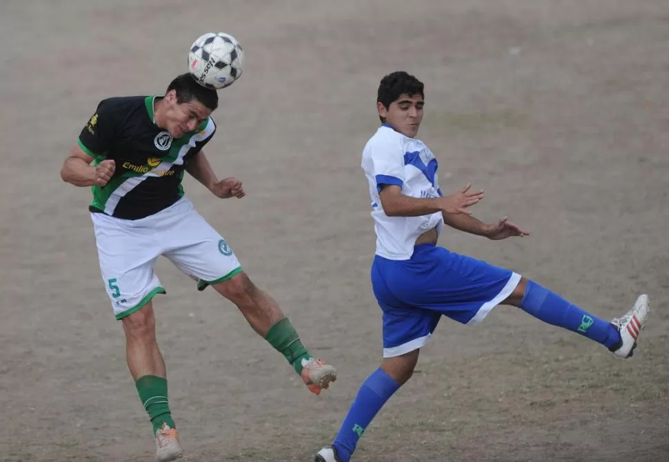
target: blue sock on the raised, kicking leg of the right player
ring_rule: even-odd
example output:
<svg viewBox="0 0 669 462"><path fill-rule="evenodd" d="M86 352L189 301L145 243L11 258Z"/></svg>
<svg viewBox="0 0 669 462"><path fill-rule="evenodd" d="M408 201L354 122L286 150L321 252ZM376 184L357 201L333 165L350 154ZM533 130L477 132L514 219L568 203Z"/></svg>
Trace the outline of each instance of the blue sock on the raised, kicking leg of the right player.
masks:
<svg viewBox="0 0 669 462"><path fill-rule="evenodd" d="M620 342L620 332L610 322L592 316L535 282L528 281L520 308L543 322L577 332L607 348Z"/></svg>

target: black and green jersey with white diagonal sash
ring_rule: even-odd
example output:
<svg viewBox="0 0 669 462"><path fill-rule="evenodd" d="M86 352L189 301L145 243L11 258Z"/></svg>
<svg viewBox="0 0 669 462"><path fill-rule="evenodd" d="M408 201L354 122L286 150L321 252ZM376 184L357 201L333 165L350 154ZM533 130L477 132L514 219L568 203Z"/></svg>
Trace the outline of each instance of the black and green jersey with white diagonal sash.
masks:
<svg viewBox="0 0 669 462"><path fill-rule="evenodd" d="M92 186L91 212L135 220L168 208L183 196L181 180L188 159L216 131L211 117L179 139L154 123L154 100L160 97L104 99L79 135L81 149L116 163L107 185Z"/></svg>

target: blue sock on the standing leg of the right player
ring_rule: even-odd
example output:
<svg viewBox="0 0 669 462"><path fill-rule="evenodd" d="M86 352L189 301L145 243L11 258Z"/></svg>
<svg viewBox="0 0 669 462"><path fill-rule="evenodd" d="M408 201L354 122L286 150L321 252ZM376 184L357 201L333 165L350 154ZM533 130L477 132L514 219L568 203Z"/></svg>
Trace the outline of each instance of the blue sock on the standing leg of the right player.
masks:
<svg viewBox="0 0 669 462"><path fill-rule="evenodd" d="M346 419L339 428L335 443L332 444L342 462L350 461L360 436L398 389L399 383L381 368L375 370L361 385L358 396L355 397Z"/></svg>

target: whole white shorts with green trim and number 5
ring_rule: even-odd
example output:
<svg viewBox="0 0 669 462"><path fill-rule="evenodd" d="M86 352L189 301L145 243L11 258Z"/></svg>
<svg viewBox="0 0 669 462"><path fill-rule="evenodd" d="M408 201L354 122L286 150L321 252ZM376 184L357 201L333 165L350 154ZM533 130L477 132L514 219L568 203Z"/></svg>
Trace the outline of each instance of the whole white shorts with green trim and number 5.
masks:
<svg viewBox="0 0 669 462"><path fill-rule="evenodd" d="M225 239L182 197L165 210L139 220L92 213L100 270L122 319L166 293L154 273L164 255L196 281L215 284L241 272L239 260Z"/></svg>

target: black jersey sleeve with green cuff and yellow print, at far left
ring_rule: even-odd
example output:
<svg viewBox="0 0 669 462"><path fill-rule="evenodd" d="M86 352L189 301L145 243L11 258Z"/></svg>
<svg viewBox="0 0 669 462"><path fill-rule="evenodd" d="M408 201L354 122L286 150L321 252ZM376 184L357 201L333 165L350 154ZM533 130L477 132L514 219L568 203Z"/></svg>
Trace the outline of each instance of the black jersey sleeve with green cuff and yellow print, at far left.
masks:
<svg viewBox="0 0 669 462"><path fill-rule="evenodd" d="M118 114L112 105L101 101L95 113L81 129L77 144L90 157L101 161L106 159L114 144L114 133L117 131Z"/></svg>

